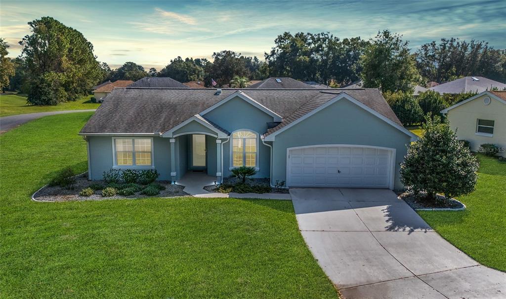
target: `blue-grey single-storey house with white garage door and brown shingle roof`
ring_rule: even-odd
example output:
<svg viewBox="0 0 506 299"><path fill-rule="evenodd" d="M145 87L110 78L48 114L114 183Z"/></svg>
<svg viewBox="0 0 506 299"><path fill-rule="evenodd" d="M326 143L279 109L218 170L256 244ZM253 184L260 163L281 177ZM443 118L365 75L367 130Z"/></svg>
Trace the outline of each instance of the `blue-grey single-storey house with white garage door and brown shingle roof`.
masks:
<svg viewBox="0 0 506 299"><path fill-rule="evenodd" d="M314 88L115 88L79 135L92 180L114 168L221 182L252 166L271 185L390 189L416 139L378 89Z"/></svg>

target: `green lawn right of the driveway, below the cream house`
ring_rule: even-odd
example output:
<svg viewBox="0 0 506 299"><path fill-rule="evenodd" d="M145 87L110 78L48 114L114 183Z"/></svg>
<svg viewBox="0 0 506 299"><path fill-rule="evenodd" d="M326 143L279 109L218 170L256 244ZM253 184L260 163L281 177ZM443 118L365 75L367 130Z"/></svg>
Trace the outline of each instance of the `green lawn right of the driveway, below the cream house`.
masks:
<svg viewBox="0 0 506 299"><path fill-rule="evenodd" d="M476 261L506 271L506 164L479 154L478 159L476 190L457 198L466 211L418 214Z"/></svg>

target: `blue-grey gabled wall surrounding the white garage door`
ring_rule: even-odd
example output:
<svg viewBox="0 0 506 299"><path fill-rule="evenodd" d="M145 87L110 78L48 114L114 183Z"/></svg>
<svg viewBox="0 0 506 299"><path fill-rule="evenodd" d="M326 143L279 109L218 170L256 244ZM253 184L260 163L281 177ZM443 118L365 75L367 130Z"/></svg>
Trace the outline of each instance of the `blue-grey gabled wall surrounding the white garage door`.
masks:
<svg viewBox="0 0 506 299"><path fill-rule="evenodd" d="M400 182L400 163L410 137L371 115L346 98L276 135L273 143L272 182L286 181L286 148L317 144L360 144L396 149L394 188Z"/></svg>

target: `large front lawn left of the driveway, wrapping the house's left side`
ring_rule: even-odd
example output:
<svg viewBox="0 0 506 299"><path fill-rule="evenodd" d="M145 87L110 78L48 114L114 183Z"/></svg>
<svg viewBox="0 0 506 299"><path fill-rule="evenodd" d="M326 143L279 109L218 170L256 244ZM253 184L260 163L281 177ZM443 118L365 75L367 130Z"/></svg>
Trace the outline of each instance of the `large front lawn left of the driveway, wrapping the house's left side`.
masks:
<svg viewBox="0 0 506 299"><path fill-rule="evenodd" d="M91 113L0 135L1 296L332 298L289 201L146 198L36 203L55 172L85 171Z"/></svg>

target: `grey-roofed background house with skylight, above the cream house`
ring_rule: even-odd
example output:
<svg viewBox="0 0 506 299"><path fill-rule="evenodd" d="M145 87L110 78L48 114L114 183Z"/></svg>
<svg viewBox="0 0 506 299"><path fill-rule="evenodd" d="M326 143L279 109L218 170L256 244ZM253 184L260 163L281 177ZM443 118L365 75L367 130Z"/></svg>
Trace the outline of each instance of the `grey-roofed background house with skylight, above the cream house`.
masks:
<svg viewBox="0 0 506 299"><path fill-rule="evenodd" d="M497 82L494 80L487 79L479 76L468 76L460 79L456 79L450 82L430 87L430 90L434 90L443 93L457 94L465 92L483 92L485 90L492 90L497 88L498 90L504 90L506 84Z"/></svg>

